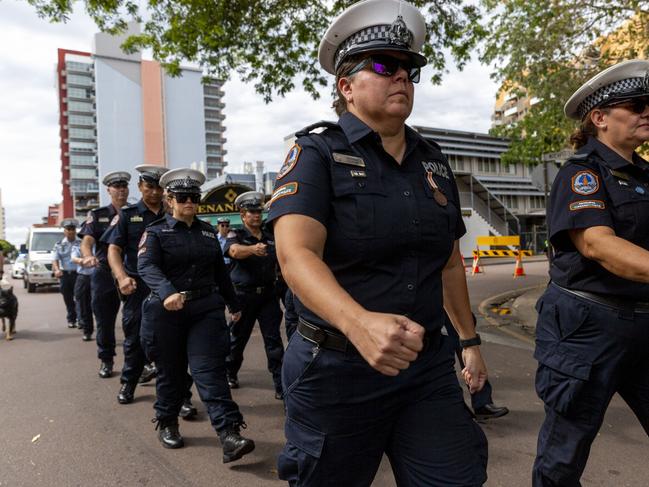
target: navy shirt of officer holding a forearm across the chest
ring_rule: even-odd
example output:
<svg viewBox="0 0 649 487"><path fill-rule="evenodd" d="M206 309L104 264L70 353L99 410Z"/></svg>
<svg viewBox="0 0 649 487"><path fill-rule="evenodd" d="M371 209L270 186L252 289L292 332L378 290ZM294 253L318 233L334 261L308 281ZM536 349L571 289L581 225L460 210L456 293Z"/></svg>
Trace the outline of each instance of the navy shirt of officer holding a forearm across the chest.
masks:
<svg viewBox="0 0 649 487"><path fill-rule="evenodd" d="M277 279L277 254L275 253L275 240L272 233L262 227L261 238L255 237L244 226L228 234L223 253L230 256L230 247L233 244L256 245L266 244L265 256L251 255L245 259L232 258L230 278L237 288L245 291L246 288L273 286ZM231 256L230 256L231 257Z"/></svg>

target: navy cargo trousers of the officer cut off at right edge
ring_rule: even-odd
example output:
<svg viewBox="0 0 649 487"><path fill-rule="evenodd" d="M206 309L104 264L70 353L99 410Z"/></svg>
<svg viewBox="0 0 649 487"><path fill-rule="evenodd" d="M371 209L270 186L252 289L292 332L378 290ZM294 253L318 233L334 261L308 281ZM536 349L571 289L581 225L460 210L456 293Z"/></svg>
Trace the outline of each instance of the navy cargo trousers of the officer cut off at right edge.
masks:
<svg viewBox="0 0 649 487"><path fill-rule="evenodd" d="M533 485L579 487L616 392L649 435L649 313L595 304L553 284L536 306L536 392L545 421Z"/></svg>

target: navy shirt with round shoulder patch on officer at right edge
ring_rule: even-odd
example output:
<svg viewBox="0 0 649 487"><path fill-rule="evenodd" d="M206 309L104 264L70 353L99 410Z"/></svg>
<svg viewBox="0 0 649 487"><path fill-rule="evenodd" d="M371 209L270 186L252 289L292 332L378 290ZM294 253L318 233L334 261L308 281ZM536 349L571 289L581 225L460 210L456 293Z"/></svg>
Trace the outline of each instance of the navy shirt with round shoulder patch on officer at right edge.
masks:
<svg viewBox="0 0 649 487"><path fill-rule="evenodd" d="M555 254L552 281L568 289L649 301L649 284L629 281L581 255L570 230L611 227L615 234L649 250L649 164L633 164L590 137L552 183L548 234Z"/></svg>

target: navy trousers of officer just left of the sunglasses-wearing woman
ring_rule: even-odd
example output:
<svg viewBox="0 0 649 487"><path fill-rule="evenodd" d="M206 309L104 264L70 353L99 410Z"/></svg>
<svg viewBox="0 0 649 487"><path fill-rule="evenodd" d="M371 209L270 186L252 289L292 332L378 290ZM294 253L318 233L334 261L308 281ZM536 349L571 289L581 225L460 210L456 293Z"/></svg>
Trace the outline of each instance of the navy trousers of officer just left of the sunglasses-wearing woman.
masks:
<svg viewBox="0 0 649 487"><path fill-rule="evenodd" d="M140 344L140 324L142 322L142 303L150 291L142 279L136 278L136 281L135 292L125 296L122 306L124 366L120 381L130 384L137 383L146 364L146 356Z"/></svg>

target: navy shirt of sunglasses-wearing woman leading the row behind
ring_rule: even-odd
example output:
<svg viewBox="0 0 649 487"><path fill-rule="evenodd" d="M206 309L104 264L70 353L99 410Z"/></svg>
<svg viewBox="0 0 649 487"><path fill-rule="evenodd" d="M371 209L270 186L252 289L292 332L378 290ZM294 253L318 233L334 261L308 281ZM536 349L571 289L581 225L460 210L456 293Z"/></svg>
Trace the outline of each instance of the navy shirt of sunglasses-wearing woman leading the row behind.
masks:
<svg viewBox="0 0 649 487"><path fill-rule="evenodd" d="M148 226L140 239L137 271L162 302L177 292L218 286L230 311L239 311L216 231L198 218L188 227L165 215ZM223 305L220 298L213 304Z"/></svg>

